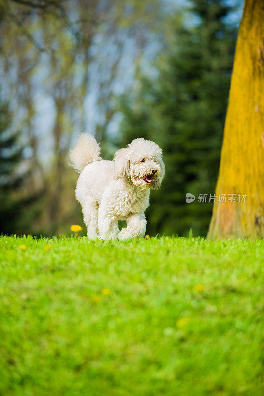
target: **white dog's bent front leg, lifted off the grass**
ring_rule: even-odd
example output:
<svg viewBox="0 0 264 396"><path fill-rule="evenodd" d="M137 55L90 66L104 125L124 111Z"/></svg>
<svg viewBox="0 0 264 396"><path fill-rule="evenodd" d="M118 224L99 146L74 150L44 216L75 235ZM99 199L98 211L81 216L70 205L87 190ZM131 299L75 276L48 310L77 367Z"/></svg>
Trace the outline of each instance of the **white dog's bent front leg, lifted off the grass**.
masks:
<svg viewBox="0 0 264 396"><path fill-rule="evenodd" d="M145 235L146 232L146 217L144 212L140 212L138 214L131 214L127 217L127 228L122 228L120 233L118 234L118 239L132 239L132 238L140 238Z"/></svg>

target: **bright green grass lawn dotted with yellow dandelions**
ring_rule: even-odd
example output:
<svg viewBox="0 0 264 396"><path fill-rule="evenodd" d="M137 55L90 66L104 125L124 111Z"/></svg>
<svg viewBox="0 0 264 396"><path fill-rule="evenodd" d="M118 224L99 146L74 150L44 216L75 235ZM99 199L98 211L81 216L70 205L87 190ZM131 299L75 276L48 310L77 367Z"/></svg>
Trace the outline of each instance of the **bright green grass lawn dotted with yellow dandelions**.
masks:
<svg viewBox="0 0 264 396"><path fill-rule="evenodd" d="M0 252L1 396L263 395L264 241L1 237Z"/></svg>

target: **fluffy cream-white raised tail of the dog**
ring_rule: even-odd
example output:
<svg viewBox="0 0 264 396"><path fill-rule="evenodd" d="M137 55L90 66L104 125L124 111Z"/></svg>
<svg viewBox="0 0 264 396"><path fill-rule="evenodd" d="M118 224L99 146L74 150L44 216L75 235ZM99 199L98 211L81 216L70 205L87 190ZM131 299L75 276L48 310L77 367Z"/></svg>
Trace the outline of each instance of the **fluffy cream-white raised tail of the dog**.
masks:
<svg viewBox="0 0 264 396"><path fill-rule="evenodd" d="M73 150L70 150L71 165L78 172L94 161L100 161L100 146L95 138L87 132L79 136L78 142Z"/></svg>

